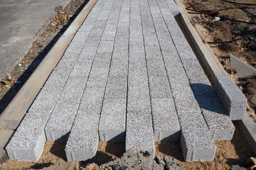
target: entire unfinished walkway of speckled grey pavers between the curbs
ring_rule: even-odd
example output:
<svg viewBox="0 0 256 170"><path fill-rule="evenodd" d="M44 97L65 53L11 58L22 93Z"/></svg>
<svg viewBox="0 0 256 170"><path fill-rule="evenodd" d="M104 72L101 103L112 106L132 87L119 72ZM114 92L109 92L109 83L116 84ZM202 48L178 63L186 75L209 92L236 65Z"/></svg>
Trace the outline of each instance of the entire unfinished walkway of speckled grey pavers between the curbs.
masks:
<svg viewBox="0 0 256 170"><path fill-rule="evenodd" d="M182 34L172 0L98 0L6 147L37 161L45 140L68 161L95 158L98 140L154 156L179 141L185 161L213 161L235 127Z"/></svg>

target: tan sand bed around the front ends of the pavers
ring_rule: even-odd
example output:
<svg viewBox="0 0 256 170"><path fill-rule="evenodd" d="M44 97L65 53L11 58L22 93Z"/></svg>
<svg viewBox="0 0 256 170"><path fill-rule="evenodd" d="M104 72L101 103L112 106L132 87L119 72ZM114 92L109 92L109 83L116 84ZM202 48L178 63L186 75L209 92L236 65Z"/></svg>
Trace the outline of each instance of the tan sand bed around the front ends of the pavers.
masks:
<svg viewBox="0 0 256 170"><path fill-rule="evenodd" d="M213 162L184 162L181 147L175 142L156 142L156 155L176 158L187 170L229 170L231 165L250 168L253 164L250 157L254 155L236 122L236 131L231 141L215 141L217 151ZM85 169L86 163L66 162L65 143L46 141L44 151L37 163L7 160L0 169L42 169L43 170L75 170ZM123 142L99 142L96 164L115 160L125 152ZM86 167L89 170L90 167Z"/></svg>

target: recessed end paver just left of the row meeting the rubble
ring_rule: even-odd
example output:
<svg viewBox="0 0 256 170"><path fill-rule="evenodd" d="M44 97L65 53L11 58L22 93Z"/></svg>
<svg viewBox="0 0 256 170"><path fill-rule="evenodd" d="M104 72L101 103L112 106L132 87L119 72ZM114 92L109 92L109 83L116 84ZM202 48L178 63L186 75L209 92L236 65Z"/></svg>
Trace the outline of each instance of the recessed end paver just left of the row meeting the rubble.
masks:
<svg viewBox="0 0 256 170"><path fill-rule="evenodd" d="M100 141L125 141L126 99L104 99L98 134Z"/></svg>

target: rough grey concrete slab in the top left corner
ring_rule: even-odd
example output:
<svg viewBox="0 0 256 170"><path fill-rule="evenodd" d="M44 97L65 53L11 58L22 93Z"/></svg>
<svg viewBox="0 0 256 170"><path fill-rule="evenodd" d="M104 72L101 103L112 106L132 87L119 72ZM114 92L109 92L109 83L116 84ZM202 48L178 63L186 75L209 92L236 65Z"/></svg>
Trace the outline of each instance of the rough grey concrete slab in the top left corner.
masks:
<svg viewBox="0 0 256 170"><path fill-rule="evenodd" d="M42 28L70 0L0 1L0 77L28 52Z"/></svg>

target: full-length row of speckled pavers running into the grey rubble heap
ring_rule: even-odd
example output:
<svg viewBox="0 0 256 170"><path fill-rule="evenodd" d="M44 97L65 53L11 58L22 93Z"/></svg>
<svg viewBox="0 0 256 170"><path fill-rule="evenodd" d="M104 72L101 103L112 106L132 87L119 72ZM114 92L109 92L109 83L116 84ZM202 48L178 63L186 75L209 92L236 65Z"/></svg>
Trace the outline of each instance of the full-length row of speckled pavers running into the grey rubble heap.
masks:
<svg viewBox="0 0 256 170"><path fill-rule="evenodd" d="M125 149L138 148L155 154L154 131L148 87L146 59L140 21L139 1L131 0L129 68Z"/></svg>

